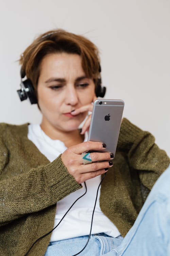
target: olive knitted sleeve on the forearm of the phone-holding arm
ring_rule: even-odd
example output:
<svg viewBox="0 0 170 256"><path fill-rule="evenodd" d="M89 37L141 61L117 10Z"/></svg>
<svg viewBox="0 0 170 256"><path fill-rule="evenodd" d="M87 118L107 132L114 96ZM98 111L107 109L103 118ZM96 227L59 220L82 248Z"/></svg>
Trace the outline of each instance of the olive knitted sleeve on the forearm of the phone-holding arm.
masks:
<svg viewBox="0 0 170 256"><path fill-rule="evenodd" d="M26 173L1 179L2 171L4 171L4 167L10 159L10 154L1 134L0 226L24 214L47 208L81 188L81 185L68 173L61 160L61 155L47 165L38 166Z"/></svg>

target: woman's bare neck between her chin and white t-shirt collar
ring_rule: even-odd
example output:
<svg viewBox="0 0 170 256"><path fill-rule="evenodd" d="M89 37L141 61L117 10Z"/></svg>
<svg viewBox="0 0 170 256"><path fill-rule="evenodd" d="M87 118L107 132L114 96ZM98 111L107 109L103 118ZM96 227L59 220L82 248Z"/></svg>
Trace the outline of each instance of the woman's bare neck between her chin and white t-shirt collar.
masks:
<svg viewBox="0 0 170 256"><path fill-rule="evenodd" d="M81 135L78 129L73 131L62 131L53 126L47 126L43 121L41 122L40 127L52 140L60 140L66 147L74 146L84 141L84 135Z"/></svg>

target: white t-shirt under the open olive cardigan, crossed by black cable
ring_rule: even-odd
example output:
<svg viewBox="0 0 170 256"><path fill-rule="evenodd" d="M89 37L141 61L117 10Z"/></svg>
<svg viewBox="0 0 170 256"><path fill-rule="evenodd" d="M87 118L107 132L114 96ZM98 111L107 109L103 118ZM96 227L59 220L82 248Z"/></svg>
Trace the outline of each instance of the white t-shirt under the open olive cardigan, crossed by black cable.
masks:
<svg viewBox="0 0 170 256"><path fill-rule="evenodd" d="M85 134L87 141L88 134ZM60 140L52 140L41 129L40 125L30 124L28 126L28 139L31 140L38 150L52 162L55 158L63 153L67 147ZM86 181L87 193L80 198L71 208L71 210L64 217L60 225L53 230L51 242L85 236L90 232L91 217L95 205L96 193L101 176ZM74 191L62 200L57 202L57 209L55 214L54 227L60 222L64 214L70 208L72 203L85 192L85 185L83 188ZM112 237L120 235L116 226L102 213L99 205L100 188L98 192L98 199L94 213L91 234L104 232Z"/></svg>

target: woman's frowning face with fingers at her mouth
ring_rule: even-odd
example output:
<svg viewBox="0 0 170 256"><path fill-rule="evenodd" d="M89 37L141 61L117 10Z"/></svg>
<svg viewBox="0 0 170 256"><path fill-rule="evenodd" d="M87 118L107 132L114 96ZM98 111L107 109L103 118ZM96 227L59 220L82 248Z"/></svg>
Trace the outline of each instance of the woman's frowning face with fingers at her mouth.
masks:
<svg viewBox="0 0 170 256"><path fill-rule="evenodd" d="M43 122L58 130L72 131L87 112L77 116L70 112L94 101L95 84L86 77L79 55L54 53L41 62L37 95Z"/></svg>

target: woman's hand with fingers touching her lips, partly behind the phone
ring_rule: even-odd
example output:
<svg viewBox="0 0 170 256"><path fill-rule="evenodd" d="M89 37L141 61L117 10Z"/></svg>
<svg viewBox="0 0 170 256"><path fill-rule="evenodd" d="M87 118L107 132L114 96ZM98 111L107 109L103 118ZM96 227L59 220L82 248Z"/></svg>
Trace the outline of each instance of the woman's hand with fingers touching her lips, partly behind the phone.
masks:
<svg viewBox="0 0 170 256"><path fill-rule="evenodd" d="M93 102L97 99L97 97L95 96L94 99L93 99ZM81 108L79 109L76 109L74 111L71 112L72 115L78 115L80 113L83 113L83 112L87 112L87 111L90 111L92 112L92 109L93 109L93 105L92 104L88 104L88 105L84 105L82 106ZM90 127L90 121L91 121L91 114L87 117L83 127L82 127L82 131L81 131L81 134L84 134L86 131L89 130L89 127Z"/></svg>

